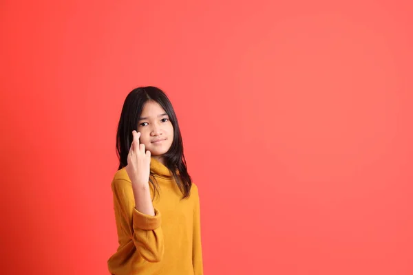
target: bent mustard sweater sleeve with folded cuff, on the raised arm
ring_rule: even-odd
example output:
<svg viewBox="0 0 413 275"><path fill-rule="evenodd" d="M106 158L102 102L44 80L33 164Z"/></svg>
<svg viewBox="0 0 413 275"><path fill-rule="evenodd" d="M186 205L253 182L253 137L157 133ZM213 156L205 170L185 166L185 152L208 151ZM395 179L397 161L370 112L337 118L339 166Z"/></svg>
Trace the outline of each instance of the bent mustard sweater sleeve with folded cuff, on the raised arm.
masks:
<svg viewBox="0 0 413 275"><path fill-rule="evenodd" d="M164 240L160 226L160 212L155 209L155 216L136 210L131 182L125 179L112 181L116 223L129 238L134 241L138 253L148 262L162 260Z"/></svg>

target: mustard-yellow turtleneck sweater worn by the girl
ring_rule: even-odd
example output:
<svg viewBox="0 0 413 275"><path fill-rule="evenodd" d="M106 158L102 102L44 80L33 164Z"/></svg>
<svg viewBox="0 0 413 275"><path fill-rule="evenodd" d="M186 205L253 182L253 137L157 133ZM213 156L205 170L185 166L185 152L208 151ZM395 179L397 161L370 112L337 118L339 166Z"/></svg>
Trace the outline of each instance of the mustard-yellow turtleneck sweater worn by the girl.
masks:
<svg viewBox="0 0 413 275"><path fill-rule="evenodd" d="M114 275L202 275L200 202L192 184L191 196L182 192L166 166L151 158L160 194L153 200L155 216L135 208L125 168L112 181L118 249L107 261ZM153 197L153 192L151 192Z"/></svg>

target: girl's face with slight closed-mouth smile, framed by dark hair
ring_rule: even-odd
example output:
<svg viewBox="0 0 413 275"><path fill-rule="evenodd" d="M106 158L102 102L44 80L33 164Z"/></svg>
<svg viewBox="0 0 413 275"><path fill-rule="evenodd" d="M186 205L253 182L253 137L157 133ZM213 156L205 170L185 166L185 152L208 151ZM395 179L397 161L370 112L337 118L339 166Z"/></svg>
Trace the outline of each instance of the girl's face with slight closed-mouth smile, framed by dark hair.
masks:
<svg viewBox="0 0 413 275"><path fill-rule="evenodd" d="M145 103L138 120L138 132L140 143L162 162L162 155L167 153L173 142L173 126L158 102L148 100Z"/></svg>

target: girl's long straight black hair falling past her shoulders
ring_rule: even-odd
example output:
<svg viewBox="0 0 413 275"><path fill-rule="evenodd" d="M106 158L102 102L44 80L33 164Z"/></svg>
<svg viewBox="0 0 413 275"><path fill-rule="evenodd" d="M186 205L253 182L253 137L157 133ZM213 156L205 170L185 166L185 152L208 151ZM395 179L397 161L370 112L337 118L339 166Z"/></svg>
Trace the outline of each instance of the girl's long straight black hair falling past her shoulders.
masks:
<svg viewBox="0 0 413 275"><path fill-rule="evenodd" d="M118 169L127 166L127 155L134 140L132 131L138 131L138 120L148 100L158 102L169 116L169 120L171 120L173 126L173 142L169 151L162 155L162 157L165 159L165 166L171 171L173 179L175 179L176 184L178 184L182 192L182 199L184 199L189 197L192 180L191 176L189 176L187 162L184 157L184 146L178 119L176 118L175 111L173 111L171 101L165 92L157 87L148 86L133 89L129 92L123 103L116 134L116 153L119 159ZM159 194L159 186L155 177L153 177L153 173L151 173L151 176L152 177L149 177L149 182L155 193Z"/></svg>

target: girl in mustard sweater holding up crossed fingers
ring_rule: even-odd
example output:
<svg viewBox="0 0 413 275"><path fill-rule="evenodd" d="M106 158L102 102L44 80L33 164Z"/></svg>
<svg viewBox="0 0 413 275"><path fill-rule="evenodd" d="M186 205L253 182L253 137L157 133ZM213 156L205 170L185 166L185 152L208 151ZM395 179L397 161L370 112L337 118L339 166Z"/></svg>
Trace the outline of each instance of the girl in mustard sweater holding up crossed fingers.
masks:
<svg viewBox="0 0 413 275"><path fill-rule="evenodd" d="M118 249L114 275L201 275L198 188L187 171L176 114L156 87L127 96L112 181Z"/></svg>

